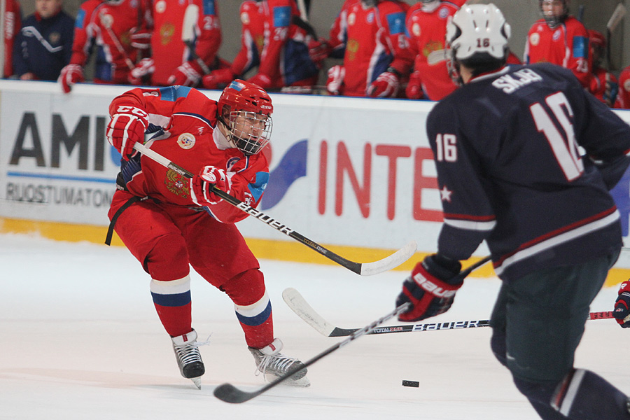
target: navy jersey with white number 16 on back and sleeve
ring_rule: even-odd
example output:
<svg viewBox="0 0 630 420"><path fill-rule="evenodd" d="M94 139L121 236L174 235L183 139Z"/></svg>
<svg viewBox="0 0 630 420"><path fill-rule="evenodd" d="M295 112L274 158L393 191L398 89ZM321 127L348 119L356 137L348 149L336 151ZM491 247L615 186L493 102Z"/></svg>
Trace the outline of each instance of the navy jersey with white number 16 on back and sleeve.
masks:
<svg viewBox="0 0 630 420"><path fill-rule="evenodd" d="M517 278L622 246L608 190L629 165L630 126L553 64L473 78L430 112L444 210L438 251L465 260L486 240Z"/></svg>

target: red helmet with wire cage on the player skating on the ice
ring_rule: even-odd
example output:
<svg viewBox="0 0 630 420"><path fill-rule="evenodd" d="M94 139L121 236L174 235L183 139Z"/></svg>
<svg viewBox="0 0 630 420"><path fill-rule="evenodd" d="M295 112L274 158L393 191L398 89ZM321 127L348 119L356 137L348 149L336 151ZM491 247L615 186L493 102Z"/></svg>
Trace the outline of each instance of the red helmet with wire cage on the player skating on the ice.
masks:
<svg viewBox="0 0 630 420"><path fill-rule="evenodd" d="M273 111L269 94L244 80L233 80L218 100L218 119L228 129L228 140L246 155L255 155L269 143Z"/></svg>

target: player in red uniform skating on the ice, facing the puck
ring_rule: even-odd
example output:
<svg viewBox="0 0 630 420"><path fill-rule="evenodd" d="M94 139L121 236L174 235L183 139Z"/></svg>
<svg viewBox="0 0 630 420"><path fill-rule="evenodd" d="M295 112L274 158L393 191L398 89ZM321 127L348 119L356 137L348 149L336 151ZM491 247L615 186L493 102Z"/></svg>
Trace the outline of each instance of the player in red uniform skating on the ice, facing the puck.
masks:
<svg viewBox="0 0 630 420"><path fill-rule="evenodd" d="M179 85L130 90L109 106L109 142L123 155L111 225L151 276L151 296L183 377L200 386L204 364L192 327L190 266L235 304L258 372L273 379L302 363L280 353L272 307L258 260L236 222L247 214L221 200L214 188L251 207L260 202L269 166L260 153L269 142L273 106L257 85L234 80L218 102ZM188 179L144 155L134 144L176 162ZM308 386L302 370L289 379Z"/></svg>

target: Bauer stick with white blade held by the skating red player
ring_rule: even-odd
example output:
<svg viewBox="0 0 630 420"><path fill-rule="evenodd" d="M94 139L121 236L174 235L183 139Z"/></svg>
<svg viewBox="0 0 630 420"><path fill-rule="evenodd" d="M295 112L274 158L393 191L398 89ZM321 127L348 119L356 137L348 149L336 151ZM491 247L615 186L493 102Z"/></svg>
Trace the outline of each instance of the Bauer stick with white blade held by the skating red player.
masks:
<svg viewBox="0 0 630 420"><path fill-rule="evenodd" d="M155 162L158 162L160 165L163 165L169 169L172 169L173 171L177 172L178 174L181 174L182 176L185 176L186 178L193 178L193 174L188 172L186 169L183 169L182 167L175 165L173 162L171 162L164 156L144 146L144 144L136 143L134 144L134 149L136 149L137 151L145 155L147 158L151 158L152 160L155 160ZM414 255L414 252L416 252L416 241L410 241L409 244L403 246L398 251L395 251L395 253L388 255L382 260L378 260L374 262L363 262L363 263L346 260L346 258L343 258L341 255L337 255L336 253L330 251L327 248L324 248L323 246L316 243L315 241L311 241L311 239L304 237L298 232L295 232L295 230L290 229L287 225L284 225L280 221L277 221L276 219L272 218L271 216L267 216L266 214L262 213L262 211L260 210L256 210L255 208L251 207L249 204L241 202L241 200L237 199L236 197L233 197L232 195L229 195L228 193L225 193L225 191L219 190L218 188L213 188L212 193L218 195L218 197L221 197L226 202L232 204L232 206L237 207L237 209L244 211L246 214L249 214L250 216L253 216L253 218L256 218L262 223L265 223L271 226L278 232L281 232L284 235L287 235L288 237L295 239L301 244L308 246L314 251L321 253L321 255L325 256L326 258L337 262L337 264L341 265L342 267L346 267L350 271L355 272L356 274L359 274L360 276L371 276L372 274L379 274L381 272L386 272L389 269L392 269L394 267L398 267L398 265L402 264L402 262L409 260L409 258L411 258L412 255Z"/></svg>

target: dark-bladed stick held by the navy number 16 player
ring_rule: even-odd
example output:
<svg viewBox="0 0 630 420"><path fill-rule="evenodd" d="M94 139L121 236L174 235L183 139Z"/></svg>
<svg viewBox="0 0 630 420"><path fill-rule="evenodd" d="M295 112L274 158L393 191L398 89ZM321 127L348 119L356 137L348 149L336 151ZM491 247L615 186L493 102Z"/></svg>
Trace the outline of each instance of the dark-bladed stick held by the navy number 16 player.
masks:
<svg viewBox="0 0 630 420"><path fill-rule="evenodd" d="M219 400L222 400L225 402L231 402L232 404L239 404L241 402L251 400L252 398L257 397L258 395L265 393L266 391L273 388L274 386L281 384L283 381L285 381L289 377L292 377L297 372L300 372L301 370L304 370L305 368L309 367L310 365L315 363L317 360L323 358L324 356L328 356L328 354L332 353L333 351L340 349L346 344L349 344L353 339L357 339L358 337L362 335L369 334L370 331L372 331L374 328L377 328L377 326L380 325L381 323L384 323L389 318L392 318L393 316L397 316L398 314L400 314L400 312L407 310L408 305L409 305L409 302L401 304L399 307L391 311L389 314L382 316L381 318L377 319L377 321L370 323L370 325L365 325L365 327L353 331L349 335L348 338L338 342L334 346L328 347L328 349L325 349L324 351L319 353L317 356L314 356L314 358L311 358L305 361L303 367L300 367L300 368L296 367L292 370L289 370L283 376L279 377L278 379L275 379L272 382L269 382L269 384L263 386L257 391L242 391L241 389L237 388L236 386L232 384L221 384L215 388L214 396L218 398Z"/></svg>

